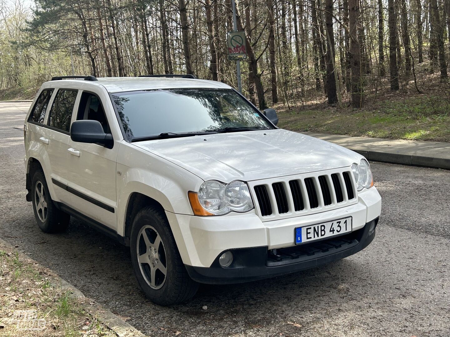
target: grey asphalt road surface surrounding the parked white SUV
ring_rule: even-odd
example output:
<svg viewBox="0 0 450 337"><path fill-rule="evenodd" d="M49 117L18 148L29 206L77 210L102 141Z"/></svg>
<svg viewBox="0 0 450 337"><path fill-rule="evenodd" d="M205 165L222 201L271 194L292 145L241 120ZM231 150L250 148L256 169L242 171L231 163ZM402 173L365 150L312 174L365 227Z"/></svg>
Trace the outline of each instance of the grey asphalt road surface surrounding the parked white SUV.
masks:
<svg viewBox="0 0 450 337"><path fill-rule="evenodd" d="M450 171L371 163L383 211L365 250L275 279L202 286L188 304L163 308L140 292L128 248L73 219L60 235L36 226L25 201L27 104L0 103L0 237L144 333L450 336Z"/></svg>

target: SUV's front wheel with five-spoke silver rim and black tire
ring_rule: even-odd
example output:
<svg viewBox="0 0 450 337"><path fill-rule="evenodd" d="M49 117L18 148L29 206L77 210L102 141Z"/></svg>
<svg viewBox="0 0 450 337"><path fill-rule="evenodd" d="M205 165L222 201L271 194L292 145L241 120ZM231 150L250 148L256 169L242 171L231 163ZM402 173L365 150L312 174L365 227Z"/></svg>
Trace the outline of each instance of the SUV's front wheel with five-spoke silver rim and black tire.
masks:
<svg viewBox="0 0 450 337"><path fill-rule="evenodd" d="M162 306L192 298L198 289L184 267L166 214L148 206L135 216L130 238L131 262L145 295Z"/></svg>

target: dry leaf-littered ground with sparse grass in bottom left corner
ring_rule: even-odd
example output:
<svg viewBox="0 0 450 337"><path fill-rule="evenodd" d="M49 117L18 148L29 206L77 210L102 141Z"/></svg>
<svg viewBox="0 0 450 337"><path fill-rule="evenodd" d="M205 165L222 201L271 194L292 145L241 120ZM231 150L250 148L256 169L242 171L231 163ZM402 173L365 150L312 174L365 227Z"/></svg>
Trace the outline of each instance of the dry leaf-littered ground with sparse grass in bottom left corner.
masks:
<svg viewBox="0 0 450 337"><path fill-rule="evenodd" d="M0 335L116 336L85 310L88 299L73 298L54 272L0 242Z"/></svg>

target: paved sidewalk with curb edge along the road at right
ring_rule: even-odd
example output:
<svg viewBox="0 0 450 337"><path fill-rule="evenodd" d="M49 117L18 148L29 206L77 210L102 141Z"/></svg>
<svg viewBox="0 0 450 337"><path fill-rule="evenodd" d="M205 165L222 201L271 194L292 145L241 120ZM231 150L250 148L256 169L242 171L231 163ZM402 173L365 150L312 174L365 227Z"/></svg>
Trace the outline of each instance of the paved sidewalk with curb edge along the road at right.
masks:
<svg viewBox="0 0 450 337"><path fill-rule="evenodd" d="M370 137L351 137L303 132L364 155L369 160L450 169L450 143L421 142Z"/></svg>

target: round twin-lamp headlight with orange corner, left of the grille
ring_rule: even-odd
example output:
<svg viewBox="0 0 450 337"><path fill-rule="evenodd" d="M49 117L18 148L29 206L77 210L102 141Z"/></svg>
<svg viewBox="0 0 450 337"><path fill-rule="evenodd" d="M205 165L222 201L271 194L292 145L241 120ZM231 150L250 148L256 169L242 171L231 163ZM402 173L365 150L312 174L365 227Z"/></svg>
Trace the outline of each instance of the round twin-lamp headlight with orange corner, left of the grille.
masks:
<svg viewBox="0 0 450 337"><path fill-rule="evenodd" d="M228 184L215 180L204 182L198 193L189 192L189 201L196 215L221 215L231 211L247 212L253 208L248 186L239 180ZM201 206L206 213L199 210L198 206Z"/></svg>

